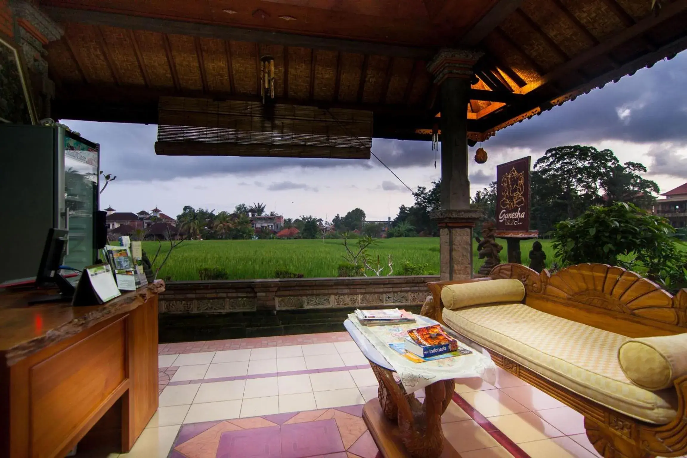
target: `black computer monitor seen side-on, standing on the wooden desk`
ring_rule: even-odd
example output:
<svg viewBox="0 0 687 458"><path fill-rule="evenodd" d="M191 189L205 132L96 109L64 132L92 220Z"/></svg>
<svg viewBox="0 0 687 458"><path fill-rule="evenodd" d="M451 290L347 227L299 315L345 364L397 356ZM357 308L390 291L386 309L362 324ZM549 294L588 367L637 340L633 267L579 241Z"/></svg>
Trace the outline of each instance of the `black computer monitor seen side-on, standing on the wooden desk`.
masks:
<svg viewBox="0 0 687 458"><path fill-rule="evenodd" d="M45 295L30 299L29 304L45 304L46 302L71 301L74 297L74 286L60 275L60 266L65 258L67 250L67 235L65 229L48 229L47 238L43 247L41 264L36 274L36 286L49 286L51 284L60 288L57 295Z"/></svg>

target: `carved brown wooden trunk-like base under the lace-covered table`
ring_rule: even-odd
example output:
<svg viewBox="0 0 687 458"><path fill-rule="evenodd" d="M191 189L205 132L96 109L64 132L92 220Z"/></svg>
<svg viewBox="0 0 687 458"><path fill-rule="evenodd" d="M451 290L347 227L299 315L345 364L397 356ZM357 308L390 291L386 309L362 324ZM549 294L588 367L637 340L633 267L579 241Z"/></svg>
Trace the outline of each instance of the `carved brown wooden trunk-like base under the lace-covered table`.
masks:
<svg viewBox="0 0 687 458"><path fill-rule="evenodd" d="M455 380L440 380L425 387L425 402L407 394L394 373L372 362L379 381L379 402L385 416L398 422L401 440L414 458L437 458L444 448L441 415L449 407Z"/></svg>

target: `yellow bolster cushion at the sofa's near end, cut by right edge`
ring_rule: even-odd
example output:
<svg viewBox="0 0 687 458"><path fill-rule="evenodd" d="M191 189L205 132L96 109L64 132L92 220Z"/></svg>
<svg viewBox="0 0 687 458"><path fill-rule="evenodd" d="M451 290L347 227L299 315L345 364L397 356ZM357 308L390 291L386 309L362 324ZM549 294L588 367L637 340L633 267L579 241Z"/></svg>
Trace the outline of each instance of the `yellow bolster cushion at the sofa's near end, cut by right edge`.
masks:
<svg viewBox="0 0 687 458"><path fill-rule="evenodd" d="M671 387L673 380L687 375L687 333L631 339L618 348L618 363L639 387Z"/></svg>

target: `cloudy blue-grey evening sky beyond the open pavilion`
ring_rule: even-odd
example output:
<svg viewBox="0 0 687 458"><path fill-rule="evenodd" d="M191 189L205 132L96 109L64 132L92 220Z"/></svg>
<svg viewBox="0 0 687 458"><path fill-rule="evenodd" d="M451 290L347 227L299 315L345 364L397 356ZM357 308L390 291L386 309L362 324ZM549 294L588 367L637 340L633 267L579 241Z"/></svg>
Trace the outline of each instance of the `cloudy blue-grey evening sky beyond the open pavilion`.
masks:
<svg viewBox="0 0 687 458"><path fill-rule="evenodd" d="M368 220L385 220L401 204L413 203L374 158L156 156L156 126L63 122L100 143L101 169L117 175L100 196L102 208L137 212L157 206L176 216L184 205L221 211L263 202L267 211L291 218L330 220L360 207ZM470 161L471 192L495 179L499 163L527 155L534 163L547 148L568 144L610 148L621 162L644 163L646 177L662 192L687 181L687 51L500 131L482 144L488 161ZM440 176L440 155L429 142L375 139L372 151L414 189Z"/></svg>

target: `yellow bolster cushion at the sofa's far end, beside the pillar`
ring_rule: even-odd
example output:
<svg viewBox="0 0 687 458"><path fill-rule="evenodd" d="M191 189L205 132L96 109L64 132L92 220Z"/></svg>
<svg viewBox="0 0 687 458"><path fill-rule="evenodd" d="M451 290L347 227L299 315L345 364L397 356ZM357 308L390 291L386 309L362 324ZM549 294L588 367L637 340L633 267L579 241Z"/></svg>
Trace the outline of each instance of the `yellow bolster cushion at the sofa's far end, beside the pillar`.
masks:
<svg viewBox="0 0 687 458"><path fill-rule="evenodd" d="M525 286L516 279L462 283L444 286L441 290L441 301L450 310L496 302L519 302L524 297Z"/></svg>

